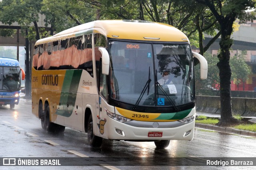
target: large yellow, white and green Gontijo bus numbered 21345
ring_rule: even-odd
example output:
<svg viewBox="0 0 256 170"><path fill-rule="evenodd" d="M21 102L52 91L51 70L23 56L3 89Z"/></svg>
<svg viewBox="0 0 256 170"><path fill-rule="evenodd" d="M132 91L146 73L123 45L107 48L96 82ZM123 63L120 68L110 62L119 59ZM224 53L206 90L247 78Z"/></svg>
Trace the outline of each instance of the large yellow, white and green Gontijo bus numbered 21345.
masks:
<svg viewBox="0 0 256 170"><path fill-rule="evenodd" d="M192 140L195 125L193 57L201 79L207 62L188 38L163 23L97 20L36 41L32 113L47 131L65 127L102 139Z"/></svg>

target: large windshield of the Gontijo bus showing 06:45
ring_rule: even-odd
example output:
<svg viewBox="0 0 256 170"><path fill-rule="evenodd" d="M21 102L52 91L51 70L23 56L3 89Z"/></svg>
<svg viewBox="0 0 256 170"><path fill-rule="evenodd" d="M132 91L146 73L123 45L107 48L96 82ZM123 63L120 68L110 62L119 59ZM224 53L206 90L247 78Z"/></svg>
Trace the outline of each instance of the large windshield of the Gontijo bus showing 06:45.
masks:
<svg viewBox="0 0 256 170"><path fill-rule="evenodd" d="M194 102L189 44L110 41L110 97L138 106Z"/></svg>

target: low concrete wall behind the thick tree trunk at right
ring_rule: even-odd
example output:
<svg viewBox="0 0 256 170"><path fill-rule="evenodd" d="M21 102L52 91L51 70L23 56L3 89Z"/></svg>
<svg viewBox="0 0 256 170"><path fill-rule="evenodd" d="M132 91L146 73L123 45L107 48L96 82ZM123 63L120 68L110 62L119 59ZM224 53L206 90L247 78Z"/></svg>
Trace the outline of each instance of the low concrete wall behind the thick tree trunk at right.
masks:
<svg viewBox="0 0 256 170"><path fill-rule="evenodd" d="M256 117L256 99L231 98L232 111L235 115ZM196 110L210 113L220 113L219 96L196 96Z"/></svg>

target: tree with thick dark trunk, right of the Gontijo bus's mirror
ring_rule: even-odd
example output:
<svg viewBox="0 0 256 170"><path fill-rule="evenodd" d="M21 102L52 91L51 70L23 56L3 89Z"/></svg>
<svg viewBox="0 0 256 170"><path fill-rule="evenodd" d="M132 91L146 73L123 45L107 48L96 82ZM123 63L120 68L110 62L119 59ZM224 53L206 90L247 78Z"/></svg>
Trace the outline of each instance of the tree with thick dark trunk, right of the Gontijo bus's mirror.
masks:
<svg viewBox="0 0 256 170"><path fill-rule="evenodd" d="M233 40L230 35L233 32L232 25L239 19L241 23L250 21L255 15L248 14L245 10L255 8L255 0L195 0L199 4L207 6L214 14L220 26L220 54L218 54L217 66L220 76L220 104L221 104L221 120L220 126L231 123L237 123L238 120L232 116L231 105L231 67L230 67L230 47Z"/></svg>

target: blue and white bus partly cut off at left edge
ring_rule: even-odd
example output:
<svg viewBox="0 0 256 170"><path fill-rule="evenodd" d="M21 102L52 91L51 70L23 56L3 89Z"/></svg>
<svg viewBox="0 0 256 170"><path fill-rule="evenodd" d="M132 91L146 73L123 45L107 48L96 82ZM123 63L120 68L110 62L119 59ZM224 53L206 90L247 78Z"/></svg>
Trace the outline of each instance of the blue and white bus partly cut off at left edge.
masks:
<svg viewBox="0 0 256 170"><path fill-rule="evenodd" d="M13 109L19 104L20 83L25 79L25 72L15 59L0 57L0 106L10 105Z"/></svg>

